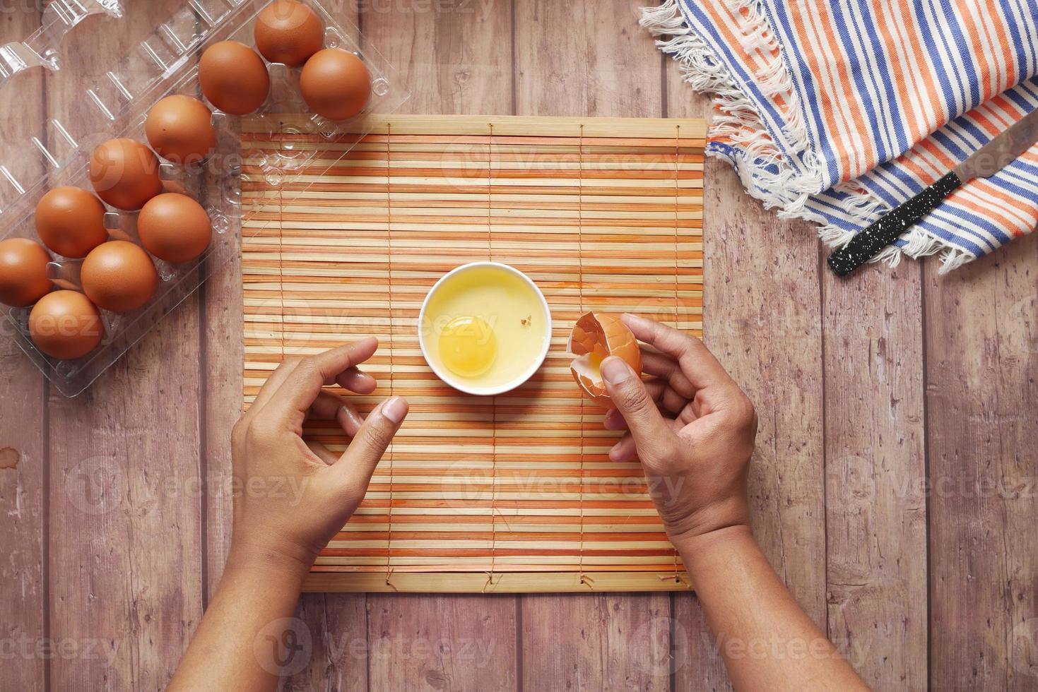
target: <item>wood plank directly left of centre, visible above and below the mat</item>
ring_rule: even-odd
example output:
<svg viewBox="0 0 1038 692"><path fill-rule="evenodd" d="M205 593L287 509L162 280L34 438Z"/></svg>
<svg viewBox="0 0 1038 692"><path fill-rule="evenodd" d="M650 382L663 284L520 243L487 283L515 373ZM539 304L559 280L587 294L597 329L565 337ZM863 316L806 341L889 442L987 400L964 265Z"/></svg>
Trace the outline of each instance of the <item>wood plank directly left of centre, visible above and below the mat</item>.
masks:
<svg viewBox="0 0 1038 692"><path fill-rule="evenodd" d="M513 112L509 2L366 10L360 25L410 85L402 112ZM514 597L372 593L366 602L370 689L515 689ZM393 642L405 647L397 656ZM492 656L480 658L481 647Z"/></svg>

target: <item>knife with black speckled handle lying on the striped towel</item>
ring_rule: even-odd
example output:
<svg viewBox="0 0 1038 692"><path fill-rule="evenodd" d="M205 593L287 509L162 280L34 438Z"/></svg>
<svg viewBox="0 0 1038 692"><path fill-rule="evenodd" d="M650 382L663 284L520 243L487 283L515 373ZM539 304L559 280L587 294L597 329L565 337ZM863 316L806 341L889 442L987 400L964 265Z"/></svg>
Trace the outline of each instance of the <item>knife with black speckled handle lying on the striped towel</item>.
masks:
<svg viewBox="0 0 1038 692"><path fill-rule="evenodd" d="M1025 115L974 151L955 170L892 210L854 236L850 243L834 251L828 256L829 269L837 276L850 274L896 241L909 226L918 223L956 188L975 177L990 177L1019 158L1035 142L1038 142L1038 110Z"/></svg>

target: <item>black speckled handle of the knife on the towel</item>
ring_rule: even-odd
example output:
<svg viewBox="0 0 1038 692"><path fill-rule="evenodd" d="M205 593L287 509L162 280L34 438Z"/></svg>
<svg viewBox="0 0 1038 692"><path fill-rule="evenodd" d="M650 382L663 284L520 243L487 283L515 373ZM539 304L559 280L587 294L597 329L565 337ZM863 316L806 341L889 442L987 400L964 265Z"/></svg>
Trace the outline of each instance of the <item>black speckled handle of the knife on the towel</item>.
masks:
<svg viewBox="0 0 1038 692"><path fill-rule="evenodd" d="M905 203L881 217L850 240L850 243L832 252L828 262L837 276L846 276L876 256L880 250L898 239L933 211L955 188L962 185L953 170Z"/></svg>

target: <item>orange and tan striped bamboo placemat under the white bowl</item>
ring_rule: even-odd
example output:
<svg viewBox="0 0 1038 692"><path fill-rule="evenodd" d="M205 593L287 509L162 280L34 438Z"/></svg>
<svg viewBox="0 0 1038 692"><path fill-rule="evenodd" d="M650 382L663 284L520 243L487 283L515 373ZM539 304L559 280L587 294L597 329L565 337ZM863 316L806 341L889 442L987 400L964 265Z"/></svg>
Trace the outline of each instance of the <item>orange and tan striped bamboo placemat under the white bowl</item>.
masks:
<svg viewBox="0 0 1038 692"><path fill-rule="evenodd" d="M586 310L702 333L704 122L390 116L326 139L285 115L280 135L250 132L266 118L243 132L246 406L284 356L367 334L380 389L353 400L411 403L306 588L689 588L640 468L607 459L618 435L575 386L566 339ZM271 176L301 149L317 149L307 167ZM474 397L428 367L417 314L437 278L487 258L537 282L553 333L529 383ZM347 442L334 423L308 435Z"/></svg>

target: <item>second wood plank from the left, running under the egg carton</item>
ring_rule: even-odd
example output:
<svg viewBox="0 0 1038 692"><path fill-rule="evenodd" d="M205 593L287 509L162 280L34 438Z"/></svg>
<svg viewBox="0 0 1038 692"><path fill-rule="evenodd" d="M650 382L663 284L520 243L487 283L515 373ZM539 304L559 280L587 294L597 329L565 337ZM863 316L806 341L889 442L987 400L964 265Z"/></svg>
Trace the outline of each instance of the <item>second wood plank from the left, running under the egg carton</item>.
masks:
<svg viewBox="0 0 1038 692"><path fill-rule="evenodd" d="M100 122L85 85L169 13L126 10L77 27L76 59L49 81L49 112L79 136ZM92 659L51 660L55 689L164 687L200 615L197 307L166 315L78 398L51 396L51 636L100 643Z"/></svg>

